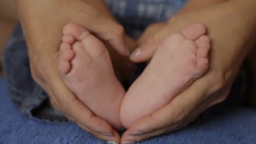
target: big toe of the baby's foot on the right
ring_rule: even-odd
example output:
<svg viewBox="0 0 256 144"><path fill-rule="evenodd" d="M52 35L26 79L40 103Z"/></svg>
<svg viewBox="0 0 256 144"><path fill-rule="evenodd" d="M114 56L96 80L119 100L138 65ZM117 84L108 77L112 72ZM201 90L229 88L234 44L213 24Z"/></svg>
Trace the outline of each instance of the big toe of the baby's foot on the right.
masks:
<svg viewBox="0 0 256 144"><path fill-rule="evenodd" d="M206 27L201 23L195 23L185 27L181 32L188 39L197 40L200 36L206 34Z"/></svg>

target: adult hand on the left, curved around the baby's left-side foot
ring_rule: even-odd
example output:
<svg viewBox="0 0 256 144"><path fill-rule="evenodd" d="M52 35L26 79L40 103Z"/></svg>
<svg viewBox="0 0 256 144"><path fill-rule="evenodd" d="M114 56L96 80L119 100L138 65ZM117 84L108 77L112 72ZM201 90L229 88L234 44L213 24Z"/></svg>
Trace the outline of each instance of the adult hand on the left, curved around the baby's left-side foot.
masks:
<svg viewBox="0 0 256 144"><path fill-rule="evenodd" d="M57 66L65 24L82 25L118 53L128 56L123 27L109 15L101 0L16 0L16 3L33 79L48 93L54 107L69 120L99 139L119 143L119 134L105 120L93 115L67 88ZM105 13L101 14L93 4Z"/></svg>

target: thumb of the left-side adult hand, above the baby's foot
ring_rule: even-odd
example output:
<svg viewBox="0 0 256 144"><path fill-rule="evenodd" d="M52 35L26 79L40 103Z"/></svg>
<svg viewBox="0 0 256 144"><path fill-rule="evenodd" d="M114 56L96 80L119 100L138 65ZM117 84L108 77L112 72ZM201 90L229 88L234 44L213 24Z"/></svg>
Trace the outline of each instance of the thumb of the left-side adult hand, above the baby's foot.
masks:
<svg viewBox="0 0 256 144"><path fill-rule="evenodd" d="M85 12L81 13L80 16L82 22L77 21L77 24L83 25L90 32L107 41L118 53L128 56L130 53L125 44L123 26L99 13L90 5L86 5L86 8L83 9ZM85 15L85 13L87 14Z"/></svg>

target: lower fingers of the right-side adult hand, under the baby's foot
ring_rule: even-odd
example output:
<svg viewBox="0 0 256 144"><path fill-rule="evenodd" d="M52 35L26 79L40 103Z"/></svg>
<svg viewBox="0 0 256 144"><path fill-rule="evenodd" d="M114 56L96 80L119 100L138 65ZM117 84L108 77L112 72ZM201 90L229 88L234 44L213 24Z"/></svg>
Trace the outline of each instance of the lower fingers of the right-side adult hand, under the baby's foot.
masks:
<svg viewBox="0 0 256 144"><path fill-rule="evenodd" d="M211 79L213 76L216 76L214 72L208 72L165 107L136 122L123 134L121 141L142 141L183 128L205 109L227 99L232 81L223 84L219 78Z"/></svg>

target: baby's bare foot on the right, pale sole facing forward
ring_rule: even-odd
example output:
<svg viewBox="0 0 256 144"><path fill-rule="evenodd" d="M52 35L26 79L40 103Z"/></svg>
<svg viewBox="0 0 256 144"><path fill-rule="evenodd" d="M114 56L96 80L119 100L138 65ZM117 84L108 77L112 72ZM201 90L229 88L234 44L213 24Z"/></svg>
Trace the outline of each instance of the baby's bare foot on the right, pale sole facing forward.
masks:
<svg viewBox="0 0 256 144"><path fill-rule="evenodd" d="M208 70L210 39L202 24L192 24L169 36L157 49L121 104L125 128L168 104Z"/></svg>

